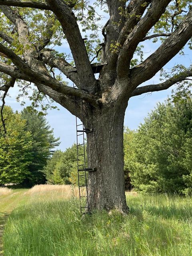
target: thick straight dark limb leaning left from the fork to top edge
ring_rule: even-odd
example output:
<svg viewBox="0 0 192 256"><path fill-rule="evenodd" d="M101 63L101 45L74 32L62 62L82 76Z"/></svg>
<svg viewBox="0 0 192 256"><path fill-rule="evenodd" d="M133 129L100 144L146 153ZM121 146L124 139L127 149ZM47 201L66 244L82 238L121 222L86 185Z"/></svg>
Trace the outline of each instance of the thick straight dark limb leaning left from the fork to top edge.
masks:
<svg viewBox="0 0 192 256"><path fill-rule="evenodd" d="M74 13L62 0L46 0L46 2L50 4L52 11L60 21L74 58L81 88L90 93L96 92L96 79Z"/></svg>

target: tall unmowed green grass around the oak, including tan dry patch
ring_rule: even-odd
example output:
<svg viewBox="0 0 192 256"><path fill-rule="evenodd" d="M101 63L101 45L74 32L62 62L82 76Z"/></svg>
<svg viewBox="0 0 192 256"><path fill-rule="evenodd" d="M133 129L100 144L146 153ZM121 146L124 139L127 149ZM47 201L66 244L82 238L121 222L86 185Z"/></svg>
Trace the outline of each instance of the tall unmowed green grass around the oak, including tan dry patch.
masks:
<svg viewBox="0 0 192 256"><path fill-rule="evenodd" d="M80 215L70 187L36 186L8 218L4 256L192 256L192 198L127 193L130 214Z"/></svg>

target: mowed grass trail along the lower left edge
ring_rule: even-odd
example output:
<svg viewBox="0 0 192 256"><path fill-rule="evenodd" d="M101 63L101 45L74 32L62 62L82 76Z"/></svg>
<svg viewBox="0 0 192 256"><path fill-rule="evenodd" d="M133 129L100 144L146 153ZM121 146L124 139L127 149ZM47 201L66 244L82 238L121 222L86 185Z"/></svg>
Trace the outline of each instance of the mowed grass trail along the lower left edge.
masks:
<svg viewBox="0 0 192 256"><path fill-rule="evenodd" d="M13 190L12 194L7 196L0 196L0 256L3 255L2 236L6 220L12 210L20 204L26 192L27 189L19 189Z"/></svg>

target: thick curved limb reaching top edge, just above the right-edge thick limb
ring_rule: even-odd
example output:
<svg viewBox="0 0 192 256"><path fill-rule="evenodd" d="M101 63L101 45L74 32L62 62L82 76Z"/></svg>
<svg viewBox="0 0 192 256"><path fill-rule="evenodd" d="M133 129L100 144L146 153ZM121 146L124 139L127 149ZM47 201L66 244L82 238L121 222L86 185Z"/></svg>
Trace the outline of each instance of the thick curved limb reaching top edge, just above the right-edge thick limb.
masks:
<svg viewBox="0 0 192 256"><path fill-rule="evenodd" d="M118 56L117 73L119 77L127 76L130 68L130 61L133 58L136 47L146 36L147 32L160 19L171 1L172 0L153 0L146 15L128 35Z"/></svg>

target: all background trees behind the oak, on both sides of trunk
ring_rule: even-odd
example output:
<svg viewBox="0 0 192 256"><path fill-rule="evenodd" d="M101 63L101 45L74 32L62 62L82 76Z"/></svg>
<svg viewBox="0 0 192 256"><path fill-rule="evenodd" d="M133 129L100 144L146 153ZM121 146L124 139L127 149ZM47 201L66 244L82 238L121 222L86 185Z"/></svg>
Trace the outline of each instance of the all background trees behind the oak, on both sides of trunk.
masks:
<svg viewBox="0 0 192 256"><path fill-rule="evenodd" d="M0 183L78 184L76 144L54 151L59 138L46 118L27 108L4 109L0 135ZM83 150L81 148L80 150ZM192 194L192 99L170 99L148 114L138 129L124 129L126 190Z"/></svg>

